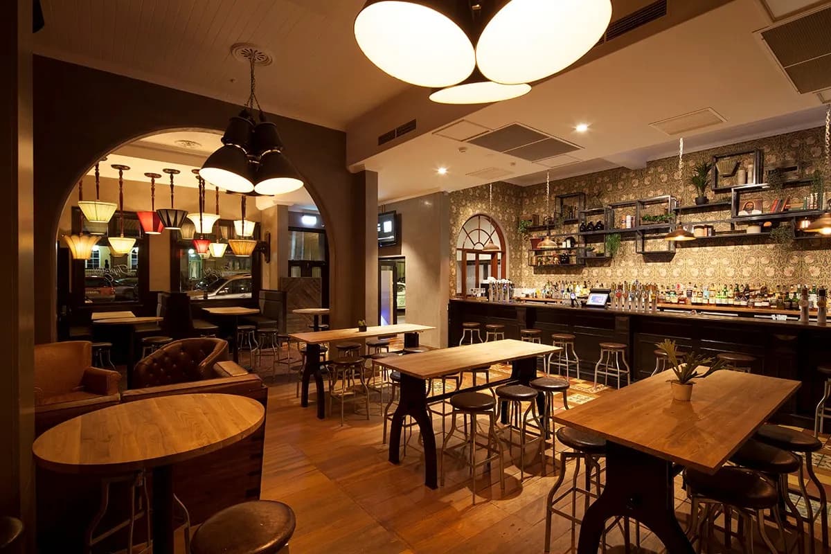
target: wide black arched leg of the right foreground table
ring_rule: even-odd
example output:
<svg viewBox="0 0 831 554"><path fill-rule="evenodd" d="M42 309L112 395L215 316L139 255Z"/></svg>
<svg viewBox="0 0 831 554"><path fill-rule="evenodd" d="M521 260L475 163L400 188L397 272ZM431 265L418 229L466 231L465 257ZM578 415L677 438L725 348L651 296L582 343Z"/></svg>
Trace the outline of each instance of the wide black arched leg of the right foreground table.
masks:
<svg viewBox="0 0 831 554"><path fill-rule="evenodd" d="M607 443L606 487L583 516L578 554L596 554L603 527L612 517L643 523L669 554L692 554L692 545L675 517L674 477L671 462Z"/></svg>

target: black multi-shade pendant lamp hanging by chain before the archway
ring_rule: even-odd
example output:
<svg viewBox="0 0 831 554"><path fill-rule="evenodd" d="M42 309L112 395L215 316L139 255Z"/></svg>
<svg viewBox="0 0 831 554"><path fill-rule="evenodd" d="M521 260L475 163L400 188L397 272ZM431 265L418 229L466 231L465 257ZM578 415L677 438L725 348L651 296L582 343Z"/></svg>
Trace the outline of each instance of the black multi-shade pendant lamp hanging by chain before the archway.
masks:
<svg viewBox="0 0 831 554"><path fill-rule="evenodd" d="M236 49L239 45L235 45ZM261 52L254 47L243 50L250 66L251 90L245 108L231 118L219 150L205 160L199 175L211 184L234 193L273 196L286 194L303 186L291 161L283 154L283 143L277 125L265 119L259 105L254 79L254 66ZM254 120L253 111L259 115Z"/></svg>

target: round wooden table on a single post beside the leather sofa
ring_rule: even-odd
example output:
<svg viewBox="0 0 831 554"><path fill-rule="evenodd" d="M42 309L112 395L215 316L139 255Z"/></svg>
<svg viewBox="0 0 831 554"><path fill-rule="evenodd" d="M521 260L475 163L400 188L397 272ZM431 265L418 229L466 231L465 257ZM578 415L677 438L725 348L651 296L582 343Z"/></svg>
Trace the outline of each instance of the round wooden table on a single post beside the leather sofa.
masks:
<svg viewBox="0 0 831 554"><path fill-rule="evenodd" d="M172 554L171 466L248 437L265 409L238 395L172 395L98 409L59 424L32 445L58 472L110 476L153 471L153 552Z"/></svg>

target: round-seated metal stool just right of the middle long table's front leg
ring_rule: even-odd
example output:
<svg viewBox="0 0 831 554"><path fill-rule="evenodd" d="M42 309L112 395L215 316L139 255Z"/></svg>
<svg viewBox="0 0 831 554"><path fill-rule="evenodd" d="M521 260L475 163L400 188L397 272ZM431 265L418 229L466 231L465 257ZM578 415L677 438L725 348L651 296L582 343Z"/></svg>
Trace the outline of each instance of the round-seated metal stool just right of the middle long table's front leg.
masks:
<svg viewBox="0 0 831 554"><path fill-rule="evenodd" d="M452 449L470 448L470 453L465 458L465 463L470 467L471 485L470 488L473 493L473 502L476 503L476 468L480 465L485 466L485 470L490 470L490 462L496 458L499 461L499 487L502 492L505 491L505 475L502 464L502 441L496 434L496 400L491 395L485 395L480 392L462 392L458 395L453 395L450 398L450 405L453 411L450 412L450 433L447 434L445 440L441 444L441 452L439 454L439 474L441 476L441 486L445 486L445 452ZM470 429L465 429L465 441L448 448L450 439L458 430L456 427L456 416L462 414L467 419L470 416ZM476 416L488 416L488 432L487 434L479 433L479 428L476 425ZM487 439L487 443L477 443L476 438L481 437ZM476 461L476 447L484 448L488 453L483 460Z"/></svg>

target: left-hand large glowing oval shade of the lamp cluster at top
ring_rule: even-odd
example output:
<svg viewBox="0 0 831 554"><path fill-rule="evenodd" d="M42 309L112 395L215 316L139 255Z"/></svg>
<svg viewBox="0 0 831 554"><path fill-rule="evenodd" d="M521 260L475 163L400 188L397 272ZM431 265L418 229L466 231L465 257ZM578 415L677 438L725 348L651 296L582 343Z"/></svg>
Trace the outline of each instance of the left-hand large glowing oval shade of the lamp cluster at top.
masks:
<svg viewBox="0 0 831 554"><path fill-rule="evenodd" d="M355 39L372 63L396 79L455 85L476 65L473 43L457 23L470 21L467 6L467 0L369 0L355 18Z"/></svg>

